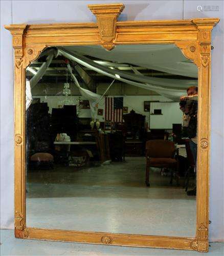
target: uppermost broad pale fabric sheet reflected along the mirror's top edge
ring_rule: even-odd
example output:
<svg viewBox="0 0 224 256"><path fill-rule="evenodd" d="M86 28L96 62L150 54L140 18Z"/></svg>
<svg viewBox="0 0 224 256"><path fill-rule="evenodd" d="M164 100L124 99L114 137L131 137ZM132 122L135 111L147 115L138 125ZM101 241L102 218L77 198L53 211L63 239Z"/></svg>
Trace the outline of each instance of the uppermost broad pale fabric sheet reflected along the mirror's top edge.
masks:
<svg viewBox="0 0 224 256"><path fill-rule="evenodd" d="M170 74L197 78L197 66L175 45L119 45L112 51L101 46L65 46L70 52L107 61L129 63Z"/></svg>

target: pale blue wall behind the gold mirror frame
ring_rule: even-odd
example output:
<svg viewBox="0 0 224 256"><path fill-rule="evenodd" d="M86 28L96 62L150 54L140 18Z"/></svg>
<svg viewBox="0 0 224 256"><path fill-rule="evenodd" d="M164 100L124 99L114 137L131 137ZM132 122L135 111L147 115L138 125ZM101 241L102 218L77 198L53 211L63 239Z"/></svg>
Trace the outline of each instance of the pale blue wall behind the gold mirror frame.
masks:
<svg viewBox="0 0 224 256"><path fill-rule="evenodd" d="M1 226L13 227L13 52L4 24L95 22L87 4L119 1L1 1ZM210 241L223 240L223 1L120 1L119 20L219 17L212 33ZM219 11L197 11L197 6Z"/></svg>

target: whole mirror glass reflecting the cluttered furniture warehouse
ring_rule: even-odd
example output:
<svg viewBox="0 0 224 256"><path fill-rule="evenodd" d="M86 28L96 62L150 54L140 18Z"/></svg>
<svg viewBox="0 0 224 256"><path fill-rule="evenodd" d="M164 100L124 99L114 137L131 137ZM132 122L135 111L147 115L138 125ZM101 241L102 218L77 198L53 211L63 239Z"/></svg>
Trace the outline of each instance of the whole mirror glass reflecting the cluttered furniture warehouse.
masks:
<svg viewBox="0 0 224 256"><path fill-rule="evenodd" d="M26 74L28 227L195 236L197 67L180 49L53 47Z"/></svg>

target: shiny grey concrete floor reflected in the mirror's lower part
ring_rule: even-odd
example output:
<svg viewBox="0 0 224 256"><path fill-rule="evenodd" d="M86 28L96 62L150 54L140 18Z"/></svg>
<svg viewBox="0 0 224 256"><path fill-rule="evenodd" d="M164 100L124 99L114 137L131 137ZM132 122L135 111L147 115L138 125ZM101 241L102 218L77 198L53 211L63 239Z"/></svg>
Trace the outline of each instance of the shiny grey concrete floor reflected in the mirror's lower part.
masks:
<svg viewBox="0 0 224 256"><path fill-rule="evenodd" d="M28 176L27 225L54 229L195 236L196 200L145 159L75 169L56 167ZM175 185L175 182L174 182Z"/></svg>

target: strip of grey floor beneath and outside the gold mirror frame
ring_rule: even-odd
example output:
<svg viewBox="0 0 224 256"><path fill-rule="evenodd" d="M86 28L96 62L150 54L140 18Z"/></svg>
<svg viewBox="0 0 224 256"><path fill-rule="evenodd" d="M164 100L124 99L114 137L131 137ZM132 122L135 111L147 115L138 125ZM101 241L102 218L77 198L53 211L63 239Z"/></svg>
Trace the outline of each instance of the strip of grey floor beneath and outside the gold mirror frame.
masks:
<svg viewBox="0 0 224 256"><path fill-rule="evenodd" d="M202 254L196 251L165 250L124 246L106 246L93 244L62 243L15 239L13 230L1 230L1 256L6 255L166 255L190 256L212 255L223 256L224 243L210 243L209 252Z"/></svg>

